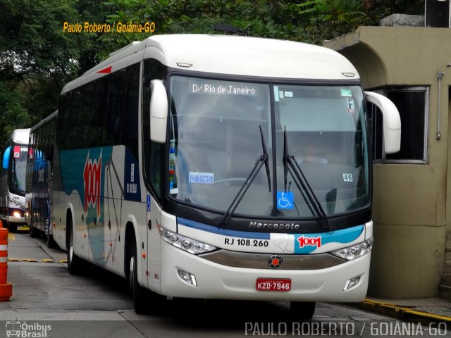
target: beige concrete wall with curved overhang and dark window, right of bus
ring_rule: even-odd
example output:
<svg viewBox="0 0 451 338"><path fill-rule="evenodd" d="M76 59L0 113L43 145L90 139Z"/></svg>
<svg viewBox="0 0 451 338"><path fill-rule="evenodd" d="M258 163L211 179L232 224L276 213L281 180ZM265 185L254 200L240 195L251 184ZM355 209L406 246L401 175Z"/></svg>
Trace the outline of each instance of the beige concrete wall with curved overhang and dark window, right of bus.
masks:
<svg viewBox="0 0 451 338"><path fill-rule="evenodd" d="M427 86L428 161L426 164L373 165L374 250L369 295L381 298L438 296L447 272L451 282L451 234L447 196L448 88L451 84L451 30L425 27L359 27L324 45L354 63L365 89ZM437 72L444 76L438 123ZM448 213L451 215L451 213ZM445 259L445 251L450 250ZM448 252L448 251L446 251ZM448 261L450 265L445 265ZM451 283L450 283L451 286Z"/></svg>

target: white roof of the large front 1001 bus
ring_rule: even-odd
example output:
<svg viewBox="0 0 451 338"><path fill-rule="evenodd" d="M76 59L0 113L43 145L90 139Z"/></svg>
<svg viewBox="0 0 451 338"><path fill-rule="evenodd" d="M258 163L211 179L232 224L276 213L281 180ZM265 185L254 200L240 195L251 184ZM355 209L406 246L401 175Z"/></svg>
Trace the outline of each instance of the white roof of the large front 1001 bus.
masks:
<svg viewBox="0 0 451 338"><path fill-rule="evenodd" d="M347 58L323 46L237 35L154 35L111 53L105 61L66 84L63 92L143 58L156 58L171 68L225 75L302 80L359 79L357 70Z"/></svg>

